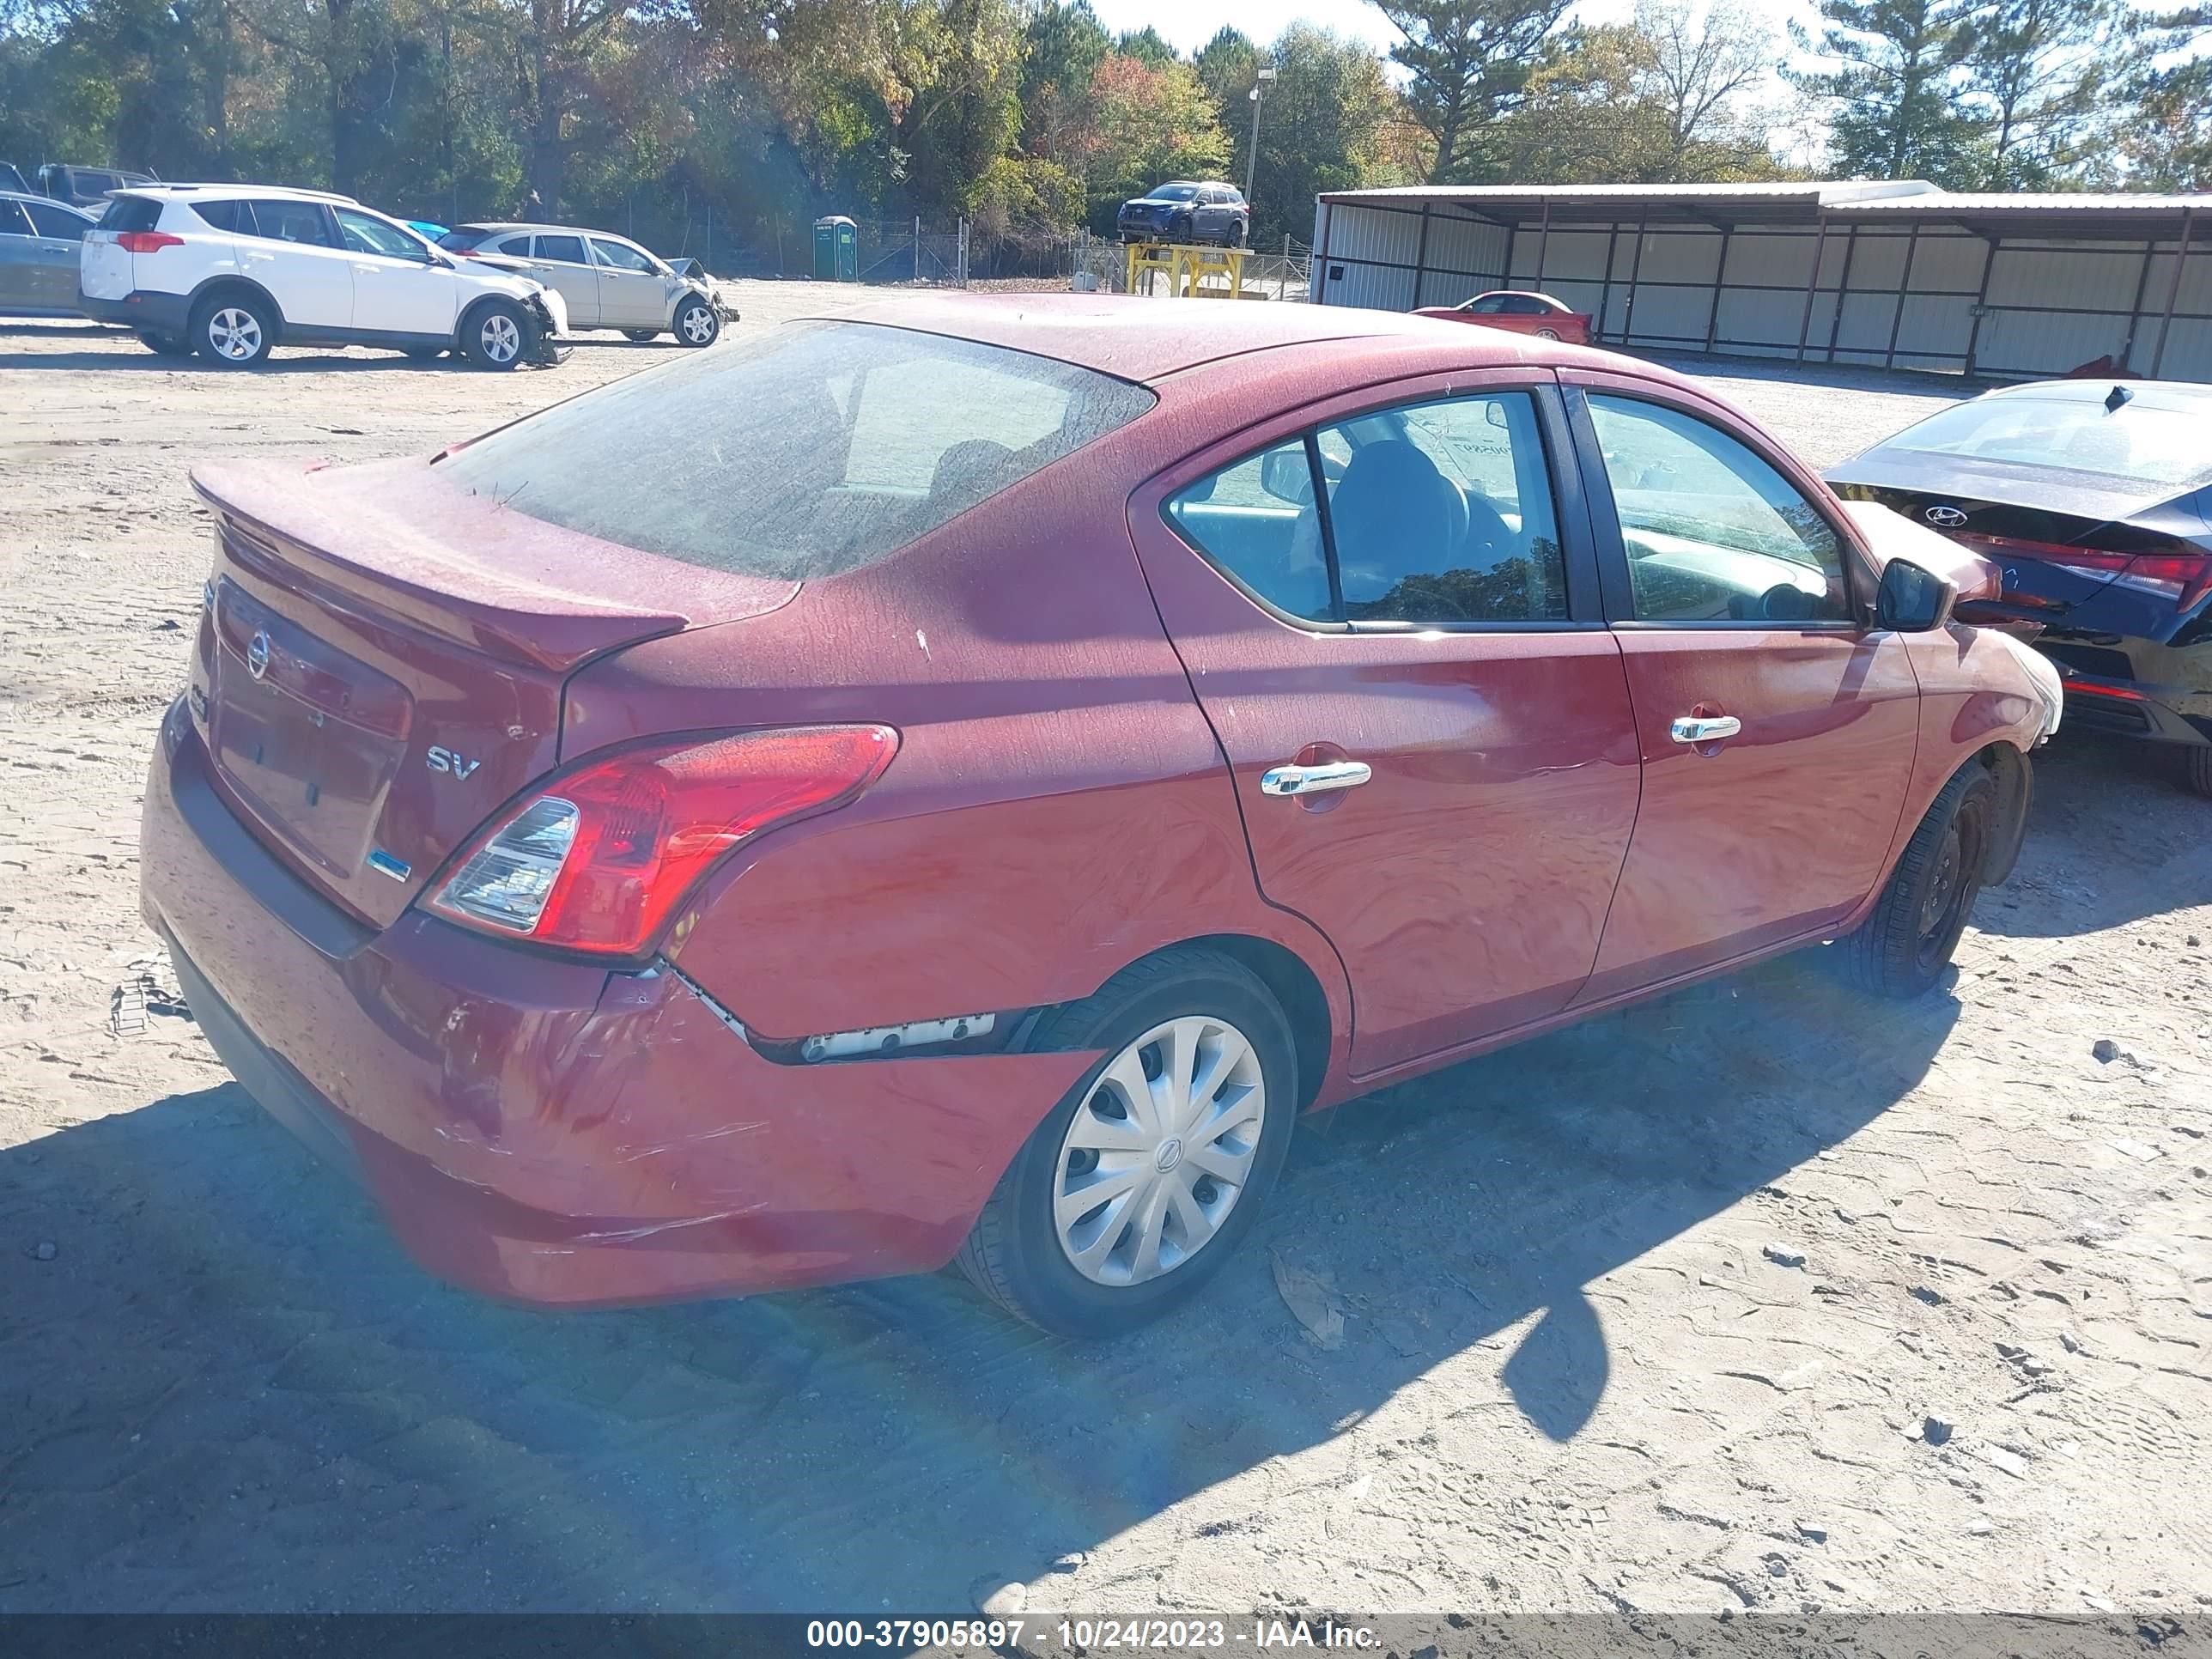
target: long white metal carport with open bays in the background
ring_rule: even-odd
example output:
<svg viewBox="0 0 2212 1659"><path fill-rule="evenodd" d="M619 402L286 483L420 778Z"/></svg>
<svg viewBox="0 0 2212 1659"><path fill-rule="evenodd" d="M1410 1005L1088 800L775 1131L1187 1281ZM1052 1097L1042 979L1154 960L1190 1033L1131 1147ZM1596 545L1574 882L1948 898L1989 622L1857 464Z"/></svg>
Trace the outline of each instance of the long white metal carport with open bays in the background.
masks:
<svg viewBox="0 0 2212 1659"><path fill-rule="evenodd" d="M2035 378L2212 380L2212 195L1893 184L1411 186L1314 212L1312 294L1542 288L1606 345Z"/></svg>

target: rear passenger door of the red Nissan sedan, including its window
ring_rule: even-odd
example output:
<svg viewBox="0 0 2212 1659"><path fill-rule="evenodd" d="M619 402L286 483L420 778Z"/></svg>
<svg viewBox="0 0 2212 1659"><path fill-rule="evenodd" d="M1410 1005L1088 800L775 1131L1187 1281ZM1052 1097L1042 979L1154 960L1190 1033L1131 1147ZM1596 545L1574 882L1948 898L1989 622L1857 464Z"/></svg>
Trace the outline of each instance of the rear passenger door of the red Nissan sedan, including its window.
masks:
<svg viewBox="0 0 2212 1659"><path fill-rule="evenodd" d="M1637 743L1566 449L1548 376L1467 372L1281 416L1130 509L1261 889L1349 971L1358 1075L1557 1013L1597 958Z"/></svg>

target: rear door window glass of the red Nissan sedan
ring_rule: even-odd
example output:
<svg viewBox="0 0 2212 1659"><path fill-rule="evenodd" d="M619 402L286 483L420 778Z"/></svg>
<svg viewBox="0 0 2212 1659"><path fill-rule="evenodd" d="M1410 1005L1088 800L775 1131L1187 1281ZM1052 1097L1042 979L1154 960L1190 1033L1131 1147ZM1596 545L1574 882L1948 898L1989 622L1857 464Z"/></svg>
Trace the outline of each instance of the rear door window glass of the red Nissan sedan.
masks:
<svg viewBox="0 0 2212 1659"><path fill-rule="evenodd" d="M1321 467L1314 493L1312 467ZM1566 560L1526 392L1380 409L1197 480L1170 522L1305 622L1564 622Z"/></svg>

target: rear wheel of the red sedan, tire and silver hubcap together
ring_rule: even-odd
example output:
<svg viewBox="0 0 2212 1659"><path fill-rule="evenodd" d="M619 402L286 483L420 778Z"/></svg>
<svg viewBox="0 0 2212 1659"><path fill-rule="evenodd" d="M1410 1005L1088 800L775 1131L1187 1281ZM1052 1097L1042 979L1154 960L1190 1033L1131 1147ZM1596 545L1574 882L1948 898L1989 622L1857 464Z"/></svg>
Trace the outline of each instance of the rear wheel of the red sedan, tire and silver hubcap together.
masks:
<svg viewBox="0 0 2212 1659"><path fill-rule="evenodd" d="M1296 1117L1290 1024L1245 967L1183 947L1057 1009L1029 1046L1106 1060L1000 1177L960 1270L1060 1336L1135 1329L1252 1230Z"/></svg>

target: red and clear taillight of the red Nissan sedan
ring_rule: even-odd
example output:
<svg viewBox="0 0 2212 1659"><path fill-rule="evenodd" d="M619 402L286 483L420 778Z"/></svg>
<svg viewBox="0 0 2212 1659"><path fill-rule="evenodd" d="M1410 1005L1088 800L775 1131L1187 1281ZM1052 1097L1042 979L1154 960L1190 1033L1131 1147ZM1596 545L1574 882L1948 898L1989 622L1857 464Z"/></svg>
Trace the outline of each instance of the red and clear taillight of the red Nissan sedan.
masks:
<svg viewBox="0 0 2212 1659"><path fill-rule="evenodd" d="M807 726L584 761L478 832L429 907L538 945L644 956L726 852L849 801L896 752L887 726Z"/></svg>

